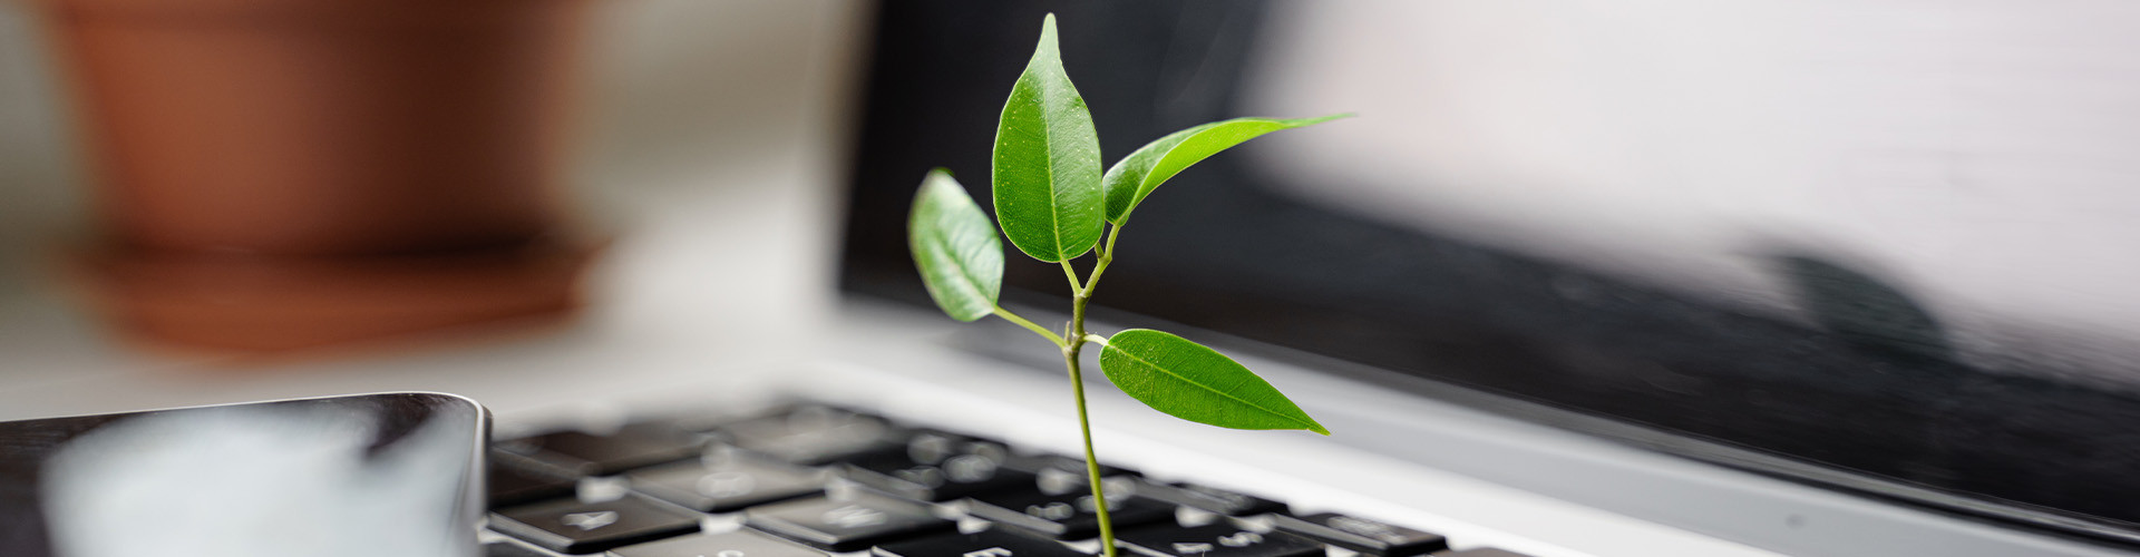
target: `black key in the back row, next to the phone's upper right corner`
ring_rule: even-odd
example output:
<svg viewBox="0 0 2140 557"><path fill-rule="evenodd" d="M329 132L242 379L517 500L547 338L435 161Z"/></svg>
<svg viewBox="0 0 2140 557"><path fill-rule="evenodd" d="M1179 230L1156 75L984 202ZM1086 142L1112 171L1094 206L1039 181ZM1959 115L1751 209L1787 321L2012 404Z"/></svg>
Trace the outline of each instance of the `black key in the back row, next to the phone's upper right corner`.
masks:
<svg viewBox="0 0 2140 557"><path fill-rule="evenodd" d="M610 476L693 458L706 450L706 437L670 422L629 424L610 435L559 431L494 443L496 450L529 456L588 476Z"/></svg>

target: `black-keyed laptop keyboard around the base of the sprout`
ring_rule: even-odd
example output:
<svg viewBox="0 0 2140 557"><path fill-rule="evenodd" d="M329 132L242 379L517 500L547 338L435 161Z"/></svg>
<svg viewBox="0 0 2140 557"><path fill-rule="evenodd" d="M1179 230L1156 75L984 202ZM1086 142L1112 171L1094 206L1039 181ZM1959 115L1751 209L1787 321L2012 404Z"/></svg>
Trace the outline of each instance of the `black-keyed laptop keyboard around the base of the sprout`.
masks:
<svg viewBox="0 0 2140 557"><path fill-rule="evenodd" d="M633 422L490 448L490 557L1096 555L1085 461L882 416L794 405ZM1102 465L1124 555L1524 557L1442 536Z"/></svg>

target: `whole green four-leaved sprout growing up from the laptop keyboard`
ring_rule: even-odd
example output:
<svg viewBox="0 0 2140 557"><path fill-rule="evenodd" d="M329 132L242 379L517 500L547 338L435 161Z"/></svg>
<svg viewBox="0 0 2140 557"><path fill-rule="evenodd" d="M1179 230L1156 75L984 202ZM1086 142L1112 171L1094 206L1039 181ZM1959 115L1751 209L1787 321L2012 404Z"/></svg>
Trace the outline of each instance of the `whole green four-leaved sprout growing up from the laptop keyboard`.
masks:
<svg viewBox="0 0 2140 557"><path fill-rule="evenodd" d="M1064 353L1085 437L1085 473L1100 518L1100 546L1109 557L1115 555L1115 529L1106 516L1106 493L1100 488L1100 461L1091 450L1085 381L1079 371L1079 353L1087 343L1100 345L1100 371L1106 379L1151 409L1224 428L1305 428L1329 435L1269 381L1209 347L1158 330L1124 330L1109 338L1089 334L1085 304L1100 287L1100 274L1115 261L1115 240L1121 240L1130 214L1153 189L1196 161L1241 141L1335 118L1344 116L1209 122L1145 144L1100 174L1100 139L1094 135L1085 99L1064 73L1055 47L1055 15L1049 15L1040 26L1034 60L1025 64L1025 73L1010 88L1010 101L1004 103L989 178L995 191L995 219L1010 244L1044 264L1061 264L1064 276L1070 278L1070 323L1061 330L1049 330L997 306L1004 285L1004 242L995 238L995 225L950 171L933 169L922 178L907 216L907 240L937 306L959 321L1002 317L1055 343ZM1106 244L1100 242L1102 234ZM1070 259L1085 253L1096 253L1098 259L1091 274L1079 278Z"/></svg>

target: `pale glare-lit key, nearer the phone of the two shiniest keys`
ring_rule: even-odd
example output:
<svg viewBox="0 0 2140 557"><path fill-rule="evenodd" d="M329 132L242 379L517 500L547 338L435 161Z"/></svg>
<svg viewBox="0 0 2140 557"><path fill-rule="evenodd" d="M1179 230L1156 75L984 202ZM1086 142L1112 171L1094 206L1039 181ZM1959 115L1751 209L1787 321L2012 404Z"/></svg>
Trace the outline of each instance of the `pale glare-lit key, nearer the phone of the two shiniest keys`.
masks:
<svg viewBox="0 0 2140 557"><path fill-rule="evenodd" d="M732 512L824 491L824 473L747 454L674 463L625 476L631 488L702 512Z"/></svg>

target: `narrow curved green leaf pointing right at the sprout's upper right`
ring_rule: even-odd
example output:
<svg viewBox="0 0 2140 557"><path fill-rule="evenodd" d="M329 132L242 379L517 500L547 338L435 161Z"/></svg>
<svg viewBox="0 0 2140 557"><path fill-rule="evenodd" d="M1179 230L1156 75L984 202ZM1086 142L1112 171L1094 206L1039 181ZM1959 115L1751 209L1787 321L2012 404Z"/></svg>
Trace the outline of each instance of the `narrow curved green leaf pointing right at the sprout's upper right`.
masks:
<svg viewBox="0 0 2140 557"><path fill-rule="evenodd" d="M1106 169L1106 176L1100 178L1100 184L1106 189L1106 221L1119 227L1130 219L1130 210L1145 201L1145 195L1151 195L1151 191L1168 178L1175 178L1175 174L1181 174L1211 154L1239 146L1248 139L1256 139L1265 133L1314 126L1348 116L1350 114L1333 114L1299 120L1233 118L1153 139L1151 144L1136 148L1136 152L1130 152L1130 156L1117 161L1115 167Z"/></svg>

